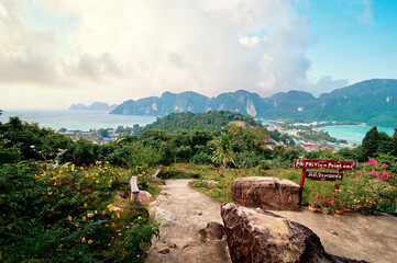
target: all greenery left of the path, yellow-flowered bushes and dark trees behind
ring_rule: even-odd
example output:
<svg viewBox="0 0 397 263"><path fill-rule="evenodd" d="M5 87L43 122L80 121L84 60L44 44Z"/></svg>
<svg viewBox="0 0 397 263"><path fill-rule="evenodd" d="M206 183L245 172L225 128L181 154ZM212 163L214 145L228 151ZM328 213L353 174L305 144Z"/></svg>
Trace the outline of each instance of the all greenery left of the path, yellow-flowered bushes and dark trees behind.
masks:
<svg viewBox="0 0 397 263"><path fill-rule="evenodd" d="M0 132L1 262L145 259L159 222L152 221L142 205L119 199L115 193L129 190L133 174L141 187L156 194L147 176L151 163L135 161L151 155L130 153L134 161L113 157L120 165L110 165L99 160L111 146L73 141L18 117L0 124Z"/></svg>

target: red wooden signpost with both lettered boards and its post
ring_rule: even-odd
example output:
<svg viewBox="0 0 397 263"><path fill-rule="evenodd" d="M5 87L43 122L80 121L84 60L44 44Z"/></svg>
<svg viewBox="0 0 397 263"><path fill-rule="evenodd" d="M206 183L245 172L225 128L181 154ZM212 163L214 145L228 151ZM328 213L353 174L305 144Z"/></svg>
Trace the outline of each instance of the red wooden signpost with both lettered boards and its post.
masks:
<svg viewBox="0 0 397 263"><path fill-rule="evenodd" d="M311 160L311 159L295 159L294 168L301 169L299 197L302 198L305 178L319 181L337 181L343 179L341 171L354 171L355 162L349 161L334 161L334 160ZM318 172L306 171L306 169L324 169L338 170L338 172Z"/></svg>

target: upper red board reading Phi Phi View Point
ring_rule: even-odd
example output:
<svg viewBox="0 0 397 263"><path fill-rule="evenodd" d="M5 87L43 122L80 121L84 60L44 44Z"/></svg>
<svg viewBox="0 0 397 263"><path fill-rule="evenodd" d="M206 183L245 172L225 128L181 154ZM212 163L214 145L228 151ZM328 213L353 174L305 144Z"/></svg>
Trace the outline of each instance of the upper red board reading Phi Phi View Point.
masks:
<svg viewBox="0 0 397 263"><path fill-rule="evenodd" d="M328 169L339 171L354 171L355 162L349 161L333 161L333 160L309 160L309 159L295 159L295 169Z"/></svg>

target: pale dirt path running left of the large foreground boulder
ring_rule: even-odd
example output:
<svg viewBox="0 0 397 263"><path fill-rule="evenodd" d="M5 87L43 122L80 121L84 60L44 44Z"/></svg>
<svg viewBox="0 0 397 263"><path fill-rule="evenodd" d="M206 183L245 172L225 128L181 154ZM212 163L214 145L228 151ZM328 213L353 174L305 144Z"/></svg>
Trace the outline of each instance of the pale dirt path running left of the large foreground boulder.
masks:
<svg viewBox="0 0 397 263"><path fill-rule="evenodd" d="M220 203L194 191L188 186L190 180L167 180L157 199L151 203L152 218L163 218L161 240L153 240L147 263L203 263L230 262L225 240L202 242L198 231L207 222L223 225ZM169 253L158 251L169 249Z"/></svg>

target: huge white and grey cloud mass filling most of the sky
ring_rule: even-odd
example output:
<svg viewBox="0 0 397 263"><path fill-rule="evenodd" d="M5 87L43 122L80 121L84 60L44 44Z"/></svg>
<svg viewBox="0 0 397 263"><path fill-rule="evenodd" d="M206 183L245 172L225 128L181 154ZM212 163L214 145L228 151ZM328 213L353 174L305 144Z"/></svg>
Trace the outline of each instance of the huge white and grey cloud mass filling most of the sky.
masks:
<svg viewBox="0 0 397 263"><path fill-rule="evenodd" d="M120 103L185 90L271 95L308 83L310 20L293 1L32 0L44 13L78 19L60 57L54 32L24 24L26 1L2 2L2 87L62 83L74 89L71 102Z"/></svg>

